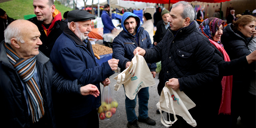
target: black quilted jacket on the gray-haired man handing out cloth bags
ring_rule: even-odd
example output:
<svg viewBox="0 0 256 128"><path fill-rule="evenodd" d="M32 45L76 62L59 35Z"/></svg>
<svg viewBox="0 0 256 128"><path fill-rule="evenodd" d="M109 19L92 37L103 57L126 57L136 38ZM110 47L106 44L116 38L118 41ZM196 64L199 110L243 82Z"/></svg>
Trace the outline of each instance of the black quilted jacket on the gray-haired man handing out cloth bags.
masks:
<svg viewBox="0 0 256 128"><path fill-rule="evenodd" d="M204 104L210 102L207 99L214 96L213 90L219 90L220 87L212 86L214 80L218 79L219 72L213 58L214 48L209 44L208 38L192 23L178 30L176 36L169 27L158 45L145 49L146 62L162 60L158 94L161 94L166 81L178 78L180 91L197 106L203 104L202 100L205 100Z"/></svg>

